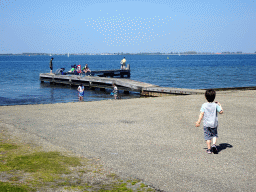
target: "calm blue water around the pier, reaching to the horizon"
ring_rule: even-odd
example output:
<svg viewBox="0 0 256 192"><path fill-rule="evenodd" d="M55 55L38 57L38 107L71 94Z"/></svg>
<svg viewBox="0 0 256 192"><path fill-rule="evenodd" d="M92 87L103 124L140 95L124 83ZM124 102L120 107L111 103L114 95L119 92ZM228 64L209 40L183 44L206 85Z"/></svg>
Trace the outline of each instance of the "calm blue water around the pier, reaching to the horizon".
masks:
<svg viewBox="0 0 256 192"><path fill-rule="evenodd" d="M123 56L53 56L53 71L86 63L91 70L118 69ZM131 79L191 89L256 86L256 55L126 55ZM167 58L169 57L169 59ZM41 84L50 56L0 56L0 105L78 102L76 87ZM112 99L110 91L86 90L84 100ZM139 97L138 94L122 98Z"/></svg>

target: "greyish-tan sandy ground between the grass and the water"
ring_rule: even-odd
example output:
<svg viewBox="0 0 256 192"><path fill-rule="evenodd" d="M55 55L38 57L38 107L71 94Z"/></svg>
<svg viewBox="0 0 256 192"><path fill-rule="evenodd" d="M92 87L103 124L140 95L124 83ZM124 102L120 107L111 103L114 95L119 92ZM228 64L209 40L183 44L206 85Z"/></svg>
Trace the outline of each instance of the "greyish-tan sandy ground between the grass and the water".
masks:
<svg viewBox="0 0 256 192"><path fill-rule="evenodd" d="M0 107L20 142L99 158L163 191L256 191L256 91L217 92L219 153L195 127L204 95Z"/></svg>

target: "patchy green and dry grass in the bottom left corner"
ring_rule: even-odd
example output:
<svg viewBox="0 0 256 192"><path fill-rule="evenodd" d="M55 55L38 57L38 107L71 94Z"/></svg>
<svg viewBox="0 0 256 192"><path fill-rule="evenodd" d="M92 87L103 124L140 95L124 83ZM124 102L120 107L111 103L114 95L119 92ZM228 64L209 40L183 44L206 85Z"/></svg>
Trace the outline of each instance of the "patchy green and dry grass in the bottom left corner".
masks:
<svg viewBox="0 0 256 192"><path fill-rule="evenodd" d="M99 162L17 144L0 133L0 191L148 191L141 181L121 180Z"/></svg>

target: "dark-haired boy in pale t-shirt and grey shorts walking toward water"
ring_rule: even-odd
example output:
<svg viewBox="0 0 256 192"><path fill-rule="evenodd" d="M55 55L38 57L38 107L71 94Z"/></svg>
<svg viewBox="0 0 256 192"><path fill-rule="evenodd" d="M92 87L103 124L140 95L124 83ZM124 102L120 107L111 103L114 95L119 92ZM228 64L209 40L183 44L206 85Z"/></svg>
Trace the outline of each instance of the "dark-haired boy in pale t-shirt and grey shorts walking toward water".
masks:
<svg viewBox="0 0 256 192"><path fill-rule="evenodd" d="M219 102L213 102L216 96L216 92L213 89L206 90L205 98L208 101L204 103L200 109L200 115L196 122L196 127L200 126L202 119L204 118L204 139L206 140L208 154L218 153L216 142L218 137L218 113L222 114L223 109ZM213 145L211 146L211 140Z"/></svg>

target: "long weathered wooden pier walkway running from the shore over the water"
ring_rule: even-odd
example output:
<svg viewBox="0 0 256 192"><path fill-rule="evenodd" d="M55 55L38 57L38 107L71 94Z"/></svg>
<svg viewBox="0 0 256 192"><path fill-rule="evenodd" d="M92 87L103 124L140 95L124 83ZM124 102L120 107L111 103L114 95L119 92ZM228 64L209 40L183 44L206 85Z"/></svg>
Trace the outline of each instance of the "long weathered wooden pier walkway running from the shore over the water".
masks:
<svg viewBox="0 0 256 192"><path fill-rule="evenodd" d="M205 91L198 89L182 89L171 87L160 87L157 85L134 81L126 78L109 78L98 76L82 76L82 75L55 75L50 73L41 73L40 81L50 82L53 84L65 84L70 86L78 86L81 83L92 89L100 90L113 89L112 84L115 83L119 90L125 93L139 92L142 96L166 96L166 95L191 95L204 94Z"/></svg>

